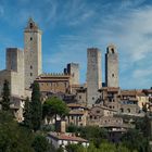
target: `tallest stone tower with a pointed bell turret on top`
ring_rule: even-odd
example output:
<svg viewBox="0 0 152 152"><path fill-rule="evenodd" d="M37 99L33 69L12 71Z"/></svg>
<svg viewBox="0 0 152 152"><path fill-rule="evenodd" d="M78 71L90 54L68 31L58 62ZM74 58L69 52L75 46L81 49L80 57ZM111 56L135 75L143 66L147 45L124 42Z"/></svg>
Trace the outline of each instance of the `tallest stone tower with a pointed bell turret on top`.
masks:
<svg viewBox="0 0 152 152"><path fill-rule="evenodd" d="M42 72L41 65L41 30L29 18L24 30L24 63L25 63L25 89L29 89L34 80Z"/></svg>

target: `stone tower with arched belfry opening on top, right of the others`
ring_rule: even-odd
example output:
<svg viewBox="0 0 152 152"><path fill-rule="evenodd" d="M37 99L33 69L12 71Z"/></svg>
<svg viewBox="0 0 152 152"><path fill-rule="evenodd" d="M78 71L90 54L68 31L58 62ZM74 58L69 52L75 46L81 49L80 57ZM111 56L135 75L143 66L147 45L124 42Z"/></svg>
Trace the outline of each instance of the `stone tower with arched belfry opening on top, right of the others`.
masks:
<svg viewBox="0 0 152 152"><path fill-rule="evenodd" d="M106 87L119 87L118 53L114 45L110 45L105 53L105 84Z"/></svg>

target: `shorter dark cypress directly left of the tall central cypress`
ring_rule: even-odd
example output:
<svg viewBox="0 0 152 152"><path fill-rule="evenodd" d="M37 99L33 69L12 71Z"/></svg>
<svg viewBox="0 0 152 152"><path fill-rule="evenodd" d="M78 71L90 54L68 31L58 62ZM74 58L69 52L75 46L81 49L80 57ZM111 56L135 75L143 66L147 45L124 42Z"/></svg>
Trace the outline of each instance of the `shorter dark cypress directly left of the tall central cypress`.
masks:
<svg viewBox="0 0 152 152"><path fill-rule="evenodd" d="M29 101L29 98L27 98L25 101L23 116L24 125L31 129L31 102Z"/></svg>

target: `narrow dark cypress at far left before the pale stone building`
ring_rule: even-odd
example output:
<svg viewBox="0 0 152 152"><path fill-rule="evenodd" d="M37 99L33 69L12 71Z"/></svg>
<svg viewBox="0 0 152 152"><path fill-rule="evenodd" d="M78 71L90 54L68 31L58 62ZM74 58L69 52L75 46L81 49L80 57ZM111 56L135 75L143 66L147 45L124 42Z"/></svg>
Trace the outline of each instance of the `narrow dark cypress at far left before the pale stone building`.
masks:
<svg viewBox="0 0 152 152"><path fill-rule="evenodd" d="M4 80L4 84L3 84L1 105L2 105L3 111L9 111L10 110L10 88L9 88L9 81L8 80Z"/></svg>

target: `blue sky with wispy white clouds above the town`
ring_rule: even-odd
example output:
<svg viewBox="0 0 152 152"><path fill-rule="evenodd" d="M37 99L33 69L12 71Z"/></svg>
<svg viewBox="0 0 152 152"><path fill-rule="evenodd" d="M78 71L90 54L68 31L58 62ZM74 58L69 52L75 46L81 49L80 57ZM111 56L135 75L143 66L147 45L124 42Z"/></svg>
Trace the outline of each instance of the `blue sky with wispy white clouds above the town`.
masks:
<svg viewBox="0 0 152 152"><path fill-rule="evenodd" d="M104 54L114 43L119 55L123 89L152 87L151 0L0 0L0 69L5 48L24 48L29 17L42 30L43 73L62 73L67 63L79 63L86 81L87 48Z"/></svg>

